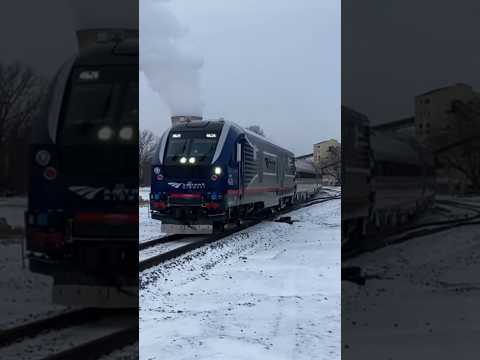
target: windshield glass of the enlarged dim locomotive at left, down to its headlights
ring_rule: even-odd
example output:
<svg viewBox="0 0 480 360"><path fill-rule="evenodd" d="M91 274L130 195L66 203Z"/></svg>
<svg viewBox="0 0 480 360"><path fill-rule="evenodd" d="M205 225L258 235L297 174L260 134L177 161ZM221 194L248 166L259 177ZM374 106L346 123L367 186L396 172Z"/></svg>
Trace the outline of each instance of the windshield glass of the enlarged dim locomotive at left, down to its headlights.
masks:
<svg viewBox="0 0 480 360"><path fill-rule="evenodd" d="M138 124L137 67L76 69L60 121L65 144L134 141ZM134 74L136 74L134 76ZM130 130L122 129L129 126Z"/></svg>

